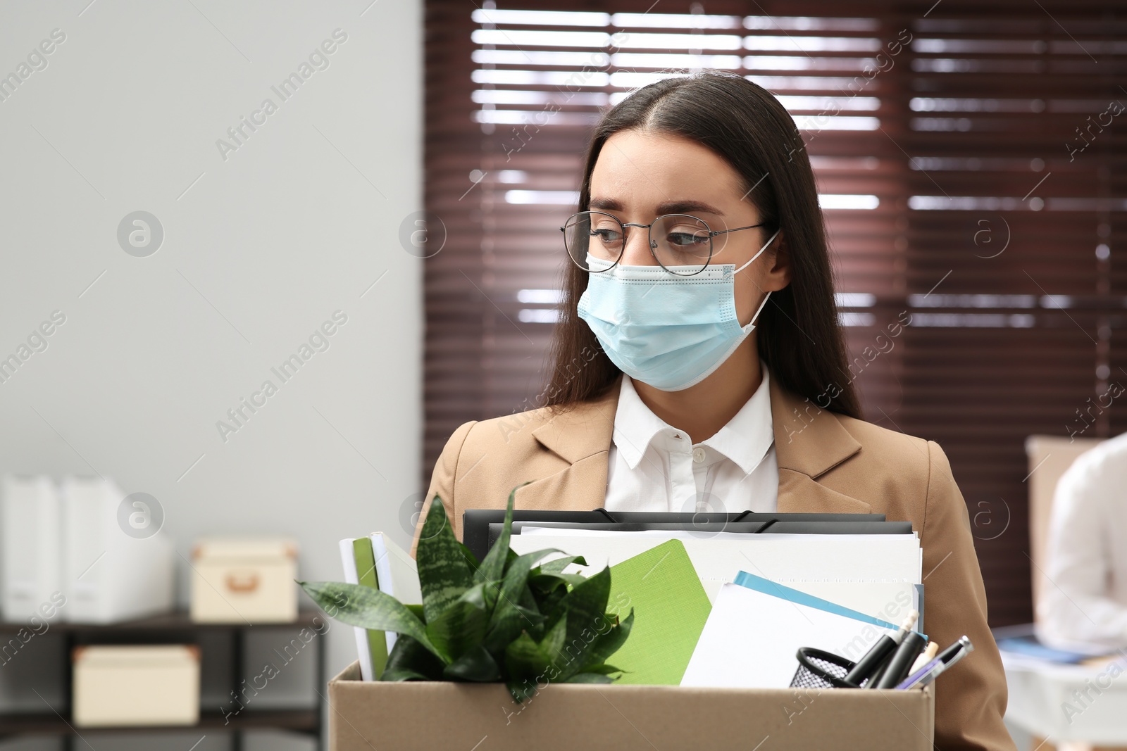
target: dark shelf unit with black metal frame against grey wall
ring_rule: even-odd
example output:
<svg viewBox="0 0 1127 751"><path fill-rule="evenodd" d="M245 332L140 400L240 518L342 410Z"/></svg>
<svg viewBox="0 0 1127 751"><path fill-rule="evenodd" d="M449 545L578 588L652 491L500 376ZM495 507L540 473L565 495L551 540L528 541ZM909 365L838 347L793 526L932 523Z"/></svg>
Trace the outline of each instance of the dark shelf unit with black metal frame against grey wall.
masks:
<svg viewBox="0 0 1127 751"><path fill-rule="evenodd" d="M237 689L247 676L242 670L242 655L246 649L249 632L263 629L300 629L302 627L317 628L325 623L325 615L319 610L302 610L298 619L282 624L197 624L188 618L186 611L177 611L166 615L153 616L139 620L110 625L88 625L71 624L64 622L52 623L50 632L63 635L65 640L66 670L65 686L63 695L71 696L70 654L76 646L83 644L156 644L156 643L197 643L204 632L225 634L230 645L230 688ZM0 623L0 645L21 628L27 628L26 623ZM281 730L292 731L309 736L321 748L321 705L323 703L322 687L325 685L325 638L317 636L314 649L314 696L313 708L301 709L251 709L246 708L237 715L227 717L222 712L201 710L199 722L195 725L160 725L160 726L130 726L130 727L78 727L76 728L70 717L69 707L64 712L44 713L8 713L0 712L0 740L8 740L25 735L56 735L68 737L68 749L79 748L76 740L79 734L87 733L154 733L161 731L190 732L194 730L230 733L231 748L240 751L242 748L242 734L245 731L257 730ZM201 660L206 660L207 654L202 651Z"/></svg>

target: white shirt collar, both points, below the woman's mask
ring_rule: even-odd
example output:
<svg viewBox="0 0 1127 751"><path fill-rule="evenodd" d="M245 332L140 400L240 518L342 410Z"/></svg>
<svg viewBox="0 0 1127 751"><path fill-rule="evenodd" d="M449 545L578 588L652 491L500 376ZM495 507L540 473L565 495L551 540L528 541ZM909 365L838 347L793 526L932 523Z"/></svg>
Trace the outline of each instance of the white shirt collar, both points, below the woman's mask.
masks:
<svg viewBox="0 0 1127 751"><path fill-rule="evenodd" d="M760 360L763 382L752 397L715 436L698 441L696 446L709 446L731 459L745 474L758 466L774 442L774 426L771 419L771 375L766 364ZM625 459L627 466L637 468L642 455L654 438L662 432L676 432L676 428L654 414L638 396L630 376L622 376L619 404L614 414L614 446Z"/></svg>

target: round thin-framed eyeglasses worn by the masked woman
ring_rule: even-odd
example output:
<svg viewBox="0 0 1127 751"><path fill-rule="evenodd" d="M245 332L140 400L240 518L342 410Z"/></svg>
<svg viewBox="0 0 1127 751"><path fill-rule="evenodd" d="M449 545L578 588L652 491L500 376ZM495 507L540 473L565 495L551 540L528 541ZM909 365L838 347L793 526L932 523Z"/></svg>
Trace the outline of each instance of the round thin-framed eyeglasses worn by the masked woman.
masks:
<svg viewBox="0 0 1127 751"><path fill-rule="evenodd" d="M728 232L764 226L766 222L712 230L704 220L689 214L663 214L649 224L622 223L616 216L603 212L579 212L568 217L560 231L568 256L579 268L598 274L618 265L625 250L625 227L649 231L649 253L669 274L693 276L700 274L712 260L712 238ZM611 265L593 269L587 256Z"/></svg>

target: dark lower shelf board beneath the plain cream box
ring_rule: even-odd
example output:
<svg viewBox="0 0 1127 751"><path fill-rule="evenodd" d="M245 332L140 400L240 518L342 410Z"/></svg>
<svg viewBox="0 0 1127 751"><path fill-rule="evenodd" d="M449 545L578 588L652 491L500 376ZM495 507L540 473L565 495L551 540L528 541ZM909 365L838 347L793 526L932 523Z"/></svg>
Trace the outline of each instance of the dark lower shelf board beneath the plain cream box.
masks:
<svg viewBox="0 0 1127 751"><path fill-rule="evenodd" d="M152 733L157 731L248 731L287 730L299 733L318 733L320 717L316 709L270 709L243 712L224 721L221 712L203 712L195 725L145 725L127 727L76 727L70 719L54 714L0 715L0 737L10 735L70 735L87 733Z"/></svg>

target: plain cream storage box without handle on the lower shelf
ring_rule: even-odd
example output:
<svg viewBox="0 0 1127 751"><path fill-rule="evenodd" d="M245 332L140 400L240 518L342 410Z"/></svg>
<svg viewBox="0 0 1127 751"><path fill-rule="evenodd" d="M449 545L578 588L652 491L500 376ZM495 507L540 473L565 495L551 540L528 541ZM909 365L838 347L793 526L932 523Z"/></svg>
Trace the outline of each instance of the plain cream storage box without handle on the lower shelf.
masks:
<svg viewBox="0 0 1127 751"><path fill-rule="evenodd" d="M74 649L74 725L199 722L199 649L193 644Z"/></svg>

